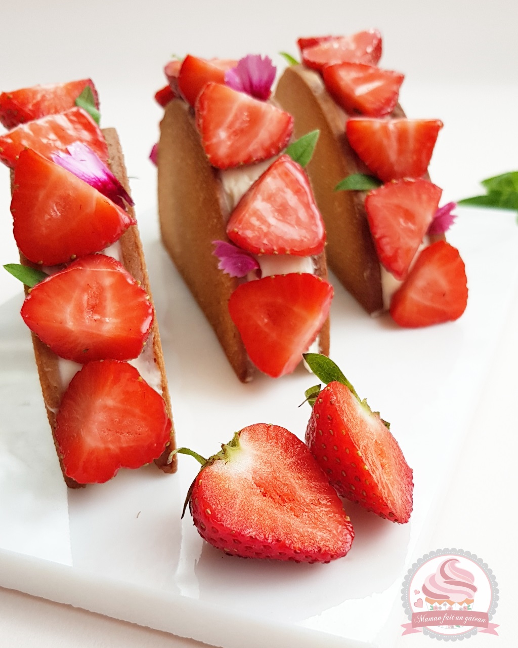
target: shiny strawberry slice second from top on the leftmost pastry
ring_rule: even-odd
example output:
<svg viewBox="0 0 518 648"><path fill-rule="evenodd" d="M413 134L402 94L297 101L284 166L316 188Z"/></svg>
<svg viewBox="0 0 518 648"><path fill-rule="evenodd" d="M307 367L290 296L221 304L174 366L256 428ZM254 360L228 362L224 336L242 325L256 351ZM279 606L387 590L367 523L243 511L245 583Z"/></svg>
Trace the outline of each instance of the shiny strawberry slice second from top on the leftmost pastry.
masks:
<svg viewBox="0 0 518 648"><path fill-rule="evenodd" d="M8 167L15 167L24 148L32 148L50 158L56 151L66 152L67 146L74 142L86 144L107 163L108 147L104 135L82 108L41 117L0 135L0 160Z"/></svg>

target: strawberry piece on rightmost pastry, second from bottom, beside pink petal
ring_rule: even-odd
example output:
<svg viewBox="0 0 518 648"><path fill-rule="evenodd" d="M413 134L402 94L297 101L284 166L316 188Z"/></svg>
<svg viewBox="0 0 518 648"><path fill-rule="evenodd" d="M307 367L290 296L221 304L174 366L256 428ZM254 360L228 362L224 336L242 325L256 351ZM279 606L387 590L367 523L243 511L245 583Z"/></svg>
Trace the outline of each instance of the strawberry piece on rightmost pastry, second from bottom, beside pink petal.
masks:
<svg viewBox="0 0 518 648"><path fill-rule="evenodd" d="M439 206L442 189L427 180L398 180L365 198L379 262L403 279Z"/></svg>

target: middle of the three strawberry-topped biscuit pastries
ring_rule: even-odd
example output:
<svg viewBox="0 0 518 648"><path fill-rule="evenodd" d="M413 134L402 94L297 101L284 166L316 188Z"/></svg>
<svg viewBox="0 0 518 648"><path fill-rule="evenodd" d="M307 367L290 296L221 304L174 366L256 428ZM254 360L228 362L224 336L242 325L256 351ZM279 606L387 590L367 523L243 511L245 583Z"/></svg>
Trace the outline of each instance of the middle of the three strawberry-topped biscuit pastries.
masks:
<svg viewBox="0 0 518 648"><path fill-rule="evenodd" d="M163 243L236 375L291 373L328 354L325 231L293 118L269 101L275 68L187 56L169 84L157 152ZM291 151L291 154L290 154Z"/></svg>

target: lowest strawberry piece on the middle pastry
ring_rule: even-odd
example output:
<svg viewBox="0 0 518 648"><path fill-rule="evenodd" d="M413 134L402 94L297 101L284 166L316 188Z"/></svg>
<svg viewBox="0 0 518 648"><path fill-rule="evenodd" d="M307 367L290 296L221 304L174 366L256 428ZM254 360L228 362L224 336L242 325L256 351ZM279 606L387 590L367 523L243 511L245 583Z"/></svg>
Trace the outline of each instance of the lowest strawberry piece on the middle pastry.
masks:
<svg viewBox="0 0 518 648"><path fill-rule="evenodd" d="M307 273L243 283L229 312L251 361L273 378L291 373L326 321L333 288Z"/></svg>

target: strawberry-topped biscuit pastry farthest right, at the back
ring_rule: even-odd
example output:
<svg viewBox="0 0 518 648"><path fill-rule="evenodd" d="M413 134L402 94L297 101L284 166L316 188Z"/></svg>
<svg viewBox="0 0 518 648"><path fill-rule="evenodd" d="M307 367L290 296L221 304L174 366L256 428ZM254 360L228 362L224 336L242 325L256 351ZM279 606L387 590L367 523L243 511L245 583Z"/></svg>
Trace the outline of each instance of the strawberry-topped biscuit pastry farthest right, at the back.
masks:
<svg viewBox="0 0 518 648"><path fill-rule="evenodd" d="M464 263L444 238L451 205L439 209L442 191L427 174L442 122L405 117L403 75L377 66L377 30L298 46L302 64L286 69L275 99L296 135L321 133L308 175L330 268L367 312L390 310L402 326L460 317Z"/></svg>

